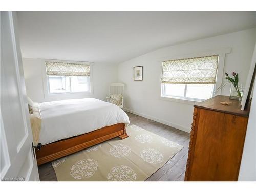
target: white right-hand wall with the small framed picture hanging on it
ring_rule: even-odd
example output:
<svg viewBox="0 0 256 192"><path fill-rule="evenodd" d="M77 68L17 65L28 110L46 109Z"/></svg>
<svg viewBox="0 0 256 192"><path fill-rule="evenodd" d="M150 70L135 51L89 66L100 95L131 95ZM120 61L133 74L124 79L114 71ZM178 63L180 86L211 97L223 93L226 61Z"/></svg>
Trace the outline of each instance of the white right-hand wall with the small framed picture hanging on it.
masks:
<svg viewBox="0 0 256 192"><path fill-rule="evenodd" d="M189 132L193 105L160 99L161 61L231 48L225 57L224 72L239 72L240 81L245 83L255 41L256 28L253 28L165 47L120 63L118 80L126 85L124 109ZM143 81L133 81L134 66L143 66ZM225 87L222 94L228 95L229 89Z"/></svg>

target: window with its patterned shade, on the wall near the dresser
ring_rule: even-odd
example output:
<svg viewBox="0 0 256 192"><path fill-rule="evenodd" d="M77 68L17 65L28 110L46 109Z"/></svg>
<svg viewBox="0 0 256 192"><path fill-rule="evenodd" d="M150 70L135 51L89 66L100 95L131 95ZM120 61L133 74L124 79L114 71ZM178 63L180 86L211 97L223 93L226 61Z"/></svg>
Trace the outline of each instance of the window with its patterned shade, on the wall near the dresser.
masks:
<svg viewBox="0 0 256 192"><path fill-rule="evenodd" d="M214 95L218 55L163 62L163 97L205 100Z"/></svg>

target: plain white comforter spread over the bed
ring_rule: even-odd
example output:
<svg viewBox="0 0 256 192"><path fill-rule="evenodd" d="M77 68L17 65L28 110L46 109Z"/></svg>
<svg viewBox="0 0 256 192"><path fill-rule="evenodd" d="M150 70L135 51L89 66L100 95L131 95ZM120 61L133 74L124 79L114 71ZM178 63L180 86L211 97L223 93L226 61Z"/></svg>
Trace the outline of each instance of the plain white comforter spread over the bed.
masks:
<svg viewBox="0 0 256 192"><path fill-rule="evenodd" d="M39 103L43 145L130 121L118 106L98 99L69 99Z"/></svg>

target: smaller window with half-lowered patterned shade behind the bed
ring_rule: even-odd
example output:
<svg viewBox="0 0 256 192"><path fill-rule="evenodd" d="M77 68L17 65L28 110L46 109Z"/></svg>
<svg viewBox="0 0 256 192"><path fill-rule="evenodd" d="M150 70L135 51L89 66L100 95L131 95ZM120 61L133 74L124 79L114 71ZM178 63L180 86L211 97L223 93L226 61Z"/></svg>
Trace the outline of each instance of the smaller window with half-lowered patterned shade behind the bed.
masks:
<svg viewBox="0 0 256 192"><path fill-rule="evenodd" d="M46 62L48 92L90 92L90 65Z"/></svg>

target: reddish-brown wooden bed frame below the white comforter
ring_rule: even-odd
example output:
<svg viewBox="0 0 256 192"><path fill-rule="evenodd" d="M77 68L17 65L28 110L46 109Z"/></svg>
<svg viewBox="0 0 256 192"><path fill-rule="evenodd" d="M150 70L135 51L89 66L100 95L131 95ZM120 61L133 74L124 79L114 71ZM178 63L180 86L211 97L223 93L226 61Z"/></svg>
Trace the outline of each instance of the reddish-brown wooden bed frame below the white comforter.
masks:
<svg viewBox="0 0 256 192"><path fill-rule="evenodd" d="M48 163L115 137L121 139L128 137L123 123L105 126L83 135L43 145L40 150L36 150L37 165Z"/></svg>

